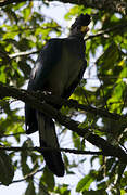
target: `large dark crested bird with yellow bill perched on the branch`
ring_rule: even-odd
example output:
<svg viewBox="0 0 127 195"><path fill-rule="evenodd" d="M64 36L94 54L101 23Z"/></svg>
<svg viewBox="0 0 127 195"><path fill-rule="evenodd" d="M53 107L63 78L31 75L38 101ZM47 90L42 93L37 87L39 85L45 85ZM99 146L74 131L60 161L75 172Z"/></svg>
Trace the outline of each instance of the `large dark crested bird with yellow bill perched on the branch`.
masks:
<svg viewBox="0 0 127 195"><path fill-rule="evenodd" d="M89 14L80 14L66 38L51 38L45 44L31 69L28 91L47 92L63 99L71 96L87 68L84 38L90 21ZM26 134L39 131L40 147L60 147L53 119L28 103L25 104L25 127ZM65 166L61 152L43 150L41 154L49 170L56 177L63 177Z"/></svg>

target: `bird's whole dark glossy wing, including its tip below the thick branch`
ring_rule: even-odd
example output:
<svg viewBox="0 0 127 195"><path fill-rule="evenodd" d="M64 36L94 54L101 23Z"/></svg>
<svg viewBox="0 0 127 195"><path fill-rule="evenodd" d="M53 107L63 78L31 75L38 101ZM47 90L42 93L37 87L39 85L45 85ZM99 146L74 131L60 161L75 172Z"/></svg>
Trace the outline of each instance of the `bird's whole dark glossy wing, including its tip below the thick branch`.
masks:
<svg viewBox="0 0 127 195"><path fill-rule="evenodd" d="M60 61L62 53L62 39L50 39L40 51L36 65L31 70L28 82L29 91L43 90L49 74ZM36 110L25 104L26 133L30 134L38 130Z"/></svg>

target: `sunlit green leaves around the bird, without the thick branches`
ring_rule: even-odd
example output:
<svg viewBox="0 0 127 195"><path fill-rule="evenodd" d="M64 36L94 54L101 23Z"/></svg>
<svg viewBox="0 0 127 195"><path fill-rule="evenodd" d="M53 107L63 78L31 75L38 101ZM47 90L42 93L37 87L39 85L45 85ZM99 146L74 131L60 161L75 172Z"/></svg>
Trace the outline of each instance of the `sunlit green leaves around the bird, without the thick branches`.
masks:
<svg viewBox="0 0 127 195"><path fill-rule="evenodd" d="M112 2L111 2L112 3ZM0 81L24 88L35 64L38 51L52 36L61 36L63 28L41 13L41 4L35 9L33 1L10 4L1 9L0 14ZM111 113L127 114L127 17L124 14L107 13L101 10L73 6L65 15L68 21L80 13L92 14L91 36L87 39L86 58L88 68L81 83L72 99L79 103L103 108ZM53 32L53 34L52 34ZM93 35L98 35L92 37ZM99 35L100 34L100 35ZM94 61L94 62L93 62ZM33 146L31 139L24 134L24 114L22 104L11 98L0 100L0 144L22 147ZM84 127L114 145L125 146L127 122L112 118L62 107L63 114L81 118ZM62 127L61 127L62 129ZM13 142L12 142L12 134ZM67 131L61 133L66 136ZM23 140L25 140L23 142ZM64 140L64 139L63 139ZM67 141L66 141L67 142ZM73 147L88 148L85 139L71 133ZM69 144L68 144L69 146ZM76 159L64 153L66 176L77 176L85 170L86 157ZM98 166L94 167L98 161ZM68 195L71 186L61 184L45 167L39 153L23 151L5 153L0 151L0 182L9 185L17 169L27 182L25 195L54 194ZM98 167L98 168L97 168ZM81 171L76 192L81 194L126 194L126 166L113 157L91 156L88 173ZM76 171L75 171L76 170ZM38 182L35 176L38 174ZM8 176L8 178L5 177ZM38 186L36 186L38 183Z"/></svg>

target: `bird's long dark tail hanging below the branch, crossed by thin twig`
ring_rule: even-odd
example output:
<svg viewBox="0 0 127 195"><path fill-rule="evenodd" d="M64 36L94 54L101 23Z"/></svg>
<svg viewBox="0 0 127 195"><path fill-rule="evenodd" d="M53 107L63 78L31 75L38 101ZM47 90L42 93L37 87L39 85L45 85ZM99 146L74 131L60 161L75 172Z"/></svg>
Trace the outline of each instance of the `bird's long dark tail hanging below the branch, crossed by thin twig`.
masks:
<svg viewBox="0 0 127 195"><path fill-rule="evenodd" d="M39 139L41 147L59 147L59 142L55 133L54 122L51 118L46 117L37 112ZM46 151L42 152L43 158L48 168L58 177L64 176L64 164L61 152Z"/></svg>

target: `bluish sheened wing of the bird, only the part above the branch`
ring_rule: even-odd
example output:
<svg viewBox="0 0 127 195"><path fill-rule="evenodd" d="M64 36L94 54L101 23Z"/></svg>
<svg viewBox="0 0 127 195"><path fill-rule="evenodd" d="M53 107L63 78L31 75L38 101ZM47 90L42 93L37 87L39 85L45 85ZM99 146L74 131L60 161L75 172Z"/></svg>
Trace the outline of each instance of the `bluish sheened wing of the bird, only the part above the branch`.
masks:
<svg viewBox="0 0 127 195"><path fill-rule="evenodd" d="M43 90L49 74L61 60L61 53L62 39L50 39L41 50L31 70L28 90Z"/></svg>

